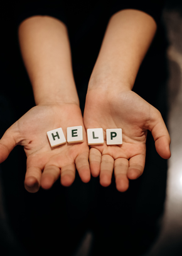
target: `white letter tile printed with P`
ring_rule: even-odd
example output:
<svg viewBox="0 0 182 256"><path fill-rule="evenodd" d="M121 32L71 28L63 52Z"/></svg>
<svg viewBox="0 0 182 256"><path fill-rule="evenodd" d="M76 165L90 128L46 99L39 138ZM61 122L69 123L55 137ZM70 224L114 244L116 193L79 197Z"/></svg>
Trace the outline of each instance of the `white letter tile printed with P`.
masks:
<svg viewBox="0 0 182 256"><path fill-rule="evenodd" d="M122 129L106 129L107 145L122 144Z"/></svg>

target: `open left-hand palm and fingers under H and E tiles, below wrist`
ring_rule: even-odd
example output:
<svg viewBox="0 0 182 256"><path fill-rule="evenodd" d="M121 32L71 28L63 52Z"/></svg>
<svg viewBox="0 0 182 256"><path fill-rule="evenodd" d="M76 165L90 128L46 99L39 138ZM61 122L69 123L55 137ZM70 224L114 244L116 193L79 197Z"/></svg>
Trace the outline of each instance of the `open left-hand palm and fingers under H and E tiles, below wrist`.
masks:
<svg viewBox="0 0 182 256"><path fill-rule="evenodd" d="M63 144L51 148L46 132L62 127L66 137L67 127L82 125L82 113L78 105L62 103L38 105L31 108L15 122L0 140L0 163L10 151L20 144L27 156L24 186L29 192L37 192L40 186L50 189L61 176L61 183L69 186L75 179L77 168L83 182L90 180L89 148L83 126L83 143Z"/></svg>

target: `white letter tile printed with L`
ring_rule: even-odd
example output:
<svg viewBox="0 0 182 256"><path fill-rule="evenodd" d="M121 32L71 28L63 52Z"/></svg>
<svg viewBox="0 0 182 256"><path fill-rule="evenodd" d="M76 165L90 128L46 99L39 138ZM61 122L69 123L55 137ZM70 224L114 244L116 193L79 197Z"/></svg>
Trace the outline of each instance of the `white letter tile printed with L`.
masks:
<svg viewBox="0 0 182 256"><path fill-rule="evenodd" d="M88 145L104 144L104 135L102 128L87 129Z"/></svg>

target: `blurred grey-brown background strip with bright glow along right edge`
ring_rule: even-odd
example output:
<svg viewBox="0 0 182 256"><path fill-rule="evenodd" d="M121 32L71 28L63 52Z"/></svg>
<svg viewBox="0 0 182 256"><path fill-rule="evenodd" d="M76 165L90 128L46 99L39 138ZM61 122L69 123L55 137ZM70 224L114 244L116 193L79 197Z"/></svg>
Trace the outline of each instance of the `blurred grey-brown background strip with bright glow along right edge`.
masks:
<svg viewBox="0 0 182 256"><path fill-rule="evenodd" d="M182 4L179 1L167 1L163 23L169 44L167 124L171 136L171 158L168 160L161 231L146 256L182 254Z"/></svg>

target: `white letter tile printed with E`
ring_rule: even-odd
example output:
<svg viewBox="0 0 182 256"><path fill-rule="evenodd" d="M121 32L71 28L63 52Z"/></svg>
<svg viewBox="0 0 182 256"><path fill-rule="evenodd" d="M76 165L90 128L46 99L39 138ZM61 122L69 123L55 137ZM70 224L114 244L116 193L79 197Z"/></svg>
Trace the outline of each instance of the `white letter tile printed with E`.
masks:
<svg viewBox="0 0 182 256"><path fill-rule="evenodd" d="M82 127L82 125L67 127L67 142L68 143L82 143L83 142L83 127Z"/></svg>

